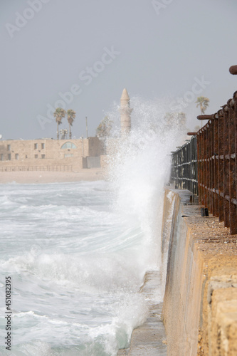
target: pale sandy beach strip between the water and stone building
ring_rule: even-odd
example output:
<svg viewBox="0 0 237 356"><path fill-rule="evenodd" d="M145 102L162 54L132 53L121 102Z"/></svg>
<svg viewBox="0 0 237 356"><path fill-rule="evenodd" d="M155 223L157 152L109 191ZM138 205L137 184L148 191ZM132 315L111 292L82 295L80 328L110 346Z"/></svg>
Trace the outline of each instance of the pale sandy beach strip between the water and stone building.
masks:
<svg viewBox="0 0 237 356"><path fill-rule="evenodd" d="M47 184L80 181L93 182L105 179L105 171L102 168L81 169L78 172L18 171L0 173L0 184Z"/></svg>

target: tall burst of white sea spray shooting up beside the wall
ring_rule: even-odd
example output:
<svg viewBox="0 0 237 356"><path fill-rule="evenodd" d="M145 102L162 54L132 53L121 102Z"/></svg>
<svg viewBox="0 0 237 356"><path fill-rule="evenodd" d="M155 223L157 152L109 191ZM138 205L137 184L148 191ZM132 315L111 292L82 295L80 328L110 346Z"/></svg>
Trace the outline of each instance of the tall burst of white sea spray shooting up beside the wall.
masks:
<svg viewBox="0 0 237 356"><path fill-rule="evenodd" d="M139 263L145 271L160 268L164 184L169 182L174 142L184 140L185 116L167 112L165 100L133 98L131 107L132 130L126 137L120 136L118 110L107 112L115 123L107 152L115 209L124 219L137 219L144 231Z"/></svg>

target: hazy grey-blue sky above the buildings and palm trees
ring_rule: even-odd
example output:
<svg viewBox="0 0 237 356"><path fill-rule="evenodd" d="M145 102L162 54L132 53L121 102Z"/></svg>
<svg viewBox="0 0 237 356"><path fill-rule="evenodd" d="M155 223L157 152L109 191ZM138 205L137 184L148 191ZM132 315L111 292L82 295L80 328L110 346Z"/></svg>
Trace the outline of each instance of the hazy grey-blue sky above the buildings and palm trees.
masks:
<svg viewBox="0 0 237 356"><path fill-rule="evenodd" d="M73 135L85 137L88 116L93 136L123 88L131 106L169 98L192 130L196 97L214 113L237 89L236 0L0 0L0 10L4 139L56 138L62 105L77 113Z"/></svg>

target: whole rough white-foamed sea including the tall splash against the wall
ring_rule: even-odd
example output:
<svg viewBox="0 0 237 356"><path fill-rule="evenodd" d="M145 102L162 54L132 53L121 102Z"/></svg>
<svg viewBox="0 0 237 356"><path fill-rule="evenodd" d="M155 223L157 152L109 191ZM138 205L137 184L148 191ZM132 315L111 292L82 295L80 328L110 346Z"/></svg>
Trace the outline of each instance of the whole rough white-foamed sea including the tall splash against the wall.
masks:
<svg viewBox="0 0 237 356"><path fill-rule="evenodd" d="M177 135L156 120L115 140L106 181L0 184L0 355L115 356L146 320Z"/></svg>

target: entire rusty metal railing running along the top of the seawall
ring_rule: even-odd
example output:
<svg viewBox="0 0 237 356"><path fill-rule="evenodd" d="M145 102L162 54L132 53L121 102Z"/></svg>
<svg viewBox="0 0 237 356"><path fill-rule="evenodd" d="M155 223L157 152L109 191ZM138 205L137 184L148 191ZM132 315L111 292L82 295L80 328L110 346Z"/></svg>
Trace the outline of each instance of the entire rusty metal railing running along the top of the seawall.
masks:
<svg viewBox="0 0 237 356"><path fill-rule="evenodd" d="M232 66L230 73L237 74L237 66ZM237 91L214 115L197 118L208 120L194 133L197 155L186 162L182 152L187 145L172 152L172 179L177 187L199 194L199 204L218 216L231 234L237 234ZM195 160L197 178L196 168L191 168Z"/></svg>

